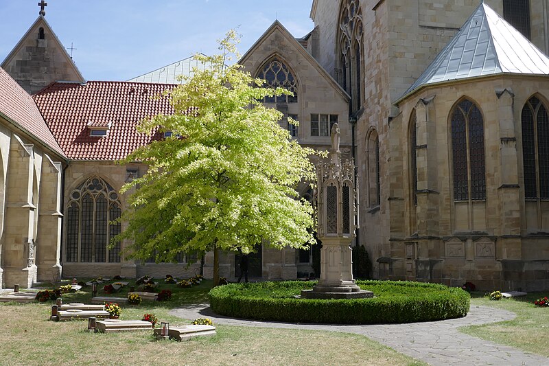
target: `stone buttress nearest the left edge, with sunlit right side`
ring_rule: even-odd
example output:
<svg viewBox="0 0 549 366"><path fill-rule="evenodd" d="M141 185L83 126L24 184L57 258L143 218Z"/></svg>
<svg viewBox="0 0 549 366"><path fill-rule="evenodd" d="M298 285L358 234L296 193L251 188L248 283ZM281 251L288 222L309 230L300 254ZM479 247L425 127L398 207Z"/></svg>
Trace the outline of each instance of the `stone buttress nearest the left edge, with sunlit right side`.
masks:
<svg viewBox="0 0 549 366"><path fill-rule="evenodd" d="M5 286L21 284L32 287L36 282L34 264L34 146L23 144L16 135L10 143L8 184L4 230Z"/></svg>

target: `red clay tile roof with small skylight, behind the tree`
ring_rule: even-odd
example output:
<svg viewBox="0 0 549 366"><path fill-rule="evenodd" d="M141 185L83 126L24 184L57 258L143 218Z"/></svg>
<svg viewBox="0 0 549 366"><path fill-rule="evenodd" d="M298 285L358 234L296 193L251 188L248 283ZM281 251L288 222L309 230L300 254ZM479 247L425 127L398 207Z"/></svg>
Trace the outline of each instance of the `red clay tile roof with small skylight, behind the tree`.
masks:
<svg viewBox="0 0 549 366"><path fill-rule="evenodd" d="M152 98L174 87L142 82L54 82L36 93L34 100L67 157L114 161L162 138L157 131L138 133L135 126L146 117L174 113L168 98ZM89 126L109 123L106 136L90 136Z"/></svg>

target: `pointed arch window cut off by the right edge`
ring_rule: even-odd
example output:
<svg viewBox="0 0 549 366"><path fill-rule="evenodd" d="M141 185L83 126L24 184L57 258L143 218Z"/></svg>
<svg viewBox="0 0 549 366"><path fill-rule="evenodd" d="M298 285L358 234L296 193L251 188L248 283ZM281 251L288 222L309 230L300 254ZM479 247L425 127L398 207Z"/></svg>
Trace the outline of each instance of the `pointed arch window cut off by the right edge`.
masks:
<svg viewBox="0 0 549 366"><path fill-rule="evenodd" d="M549 118L532 97L522 108L522 161L526 199L549 198Z"/></svg>

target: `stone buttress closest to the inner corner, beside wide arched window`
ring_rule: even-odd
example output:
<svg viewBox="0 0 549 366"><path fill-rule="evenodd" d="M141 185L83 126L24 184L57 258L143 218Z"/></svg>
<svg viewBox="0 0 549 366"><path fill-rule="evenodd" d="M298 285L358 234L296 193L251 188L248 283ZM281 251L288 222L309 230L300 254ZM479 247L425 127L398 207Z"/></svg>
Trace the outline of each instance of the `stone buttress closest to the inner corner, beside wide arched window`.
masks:
<svg viewBox="0 0 549 366"><path fill-rule="evenodd" d="M61 277L61 174L61 163L44 155L36 236L36 265L40 281L56 281Z"/></svg>

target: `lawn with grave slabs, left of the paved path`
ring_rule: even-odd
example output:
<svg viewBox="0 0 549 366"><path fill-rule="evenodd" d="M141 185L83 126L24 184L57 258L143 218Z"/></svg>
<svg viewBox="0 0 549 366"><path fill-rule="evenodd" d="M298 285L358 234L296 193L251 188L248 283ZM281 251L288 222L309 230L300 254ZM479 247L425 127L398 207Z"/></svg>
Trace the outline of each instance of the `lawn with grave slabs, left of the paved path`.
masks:
<svg viewBox="0 0 549 366"><path fill-rule="evenodd" d="M110 296L125 297L128 288ZM123 305L120 319L153 312L171 325L189 323L169 311L207 302L211 282L156 290L163 288L172 290L172 300ZM62 295L63 301L89 304L90 291ZM101 286L98 295L105 295ZM2 365L425 365L365 336L340 332L217 325L215 336L180 343L156 341L150 331L93 334L84 332L86 321L48 321L51 305L0 303Z"/></svg>

